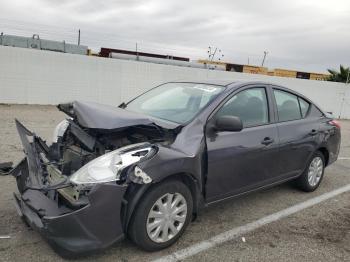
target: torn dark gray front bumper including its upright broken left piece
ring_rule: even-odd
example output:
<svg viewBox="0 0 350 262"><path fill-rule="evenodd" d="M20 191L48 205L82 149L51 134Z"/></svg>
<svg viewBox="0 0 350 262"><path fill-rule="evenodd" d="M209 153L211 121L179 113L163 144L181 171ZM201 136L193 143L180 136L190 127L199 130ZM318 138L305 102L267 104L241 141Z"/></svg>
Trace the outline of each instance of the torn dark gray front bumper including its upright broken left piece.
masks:
<svg viewBox="0 0 350 262"><path fill-rule="evenodd" d="M121 210L126 186L115 183L96 185L87 204L71 209L52 196L57 192L40 190L40 165L35 134L16 122L26 159L13 171L20 194L14 194L19 215L48 240L61 256L80 255L106 248L124 237ZM29 142L29 138L33 142ZM26 186L28 184L31 186ZM55 190L54 190L55 191Z"/></svg>

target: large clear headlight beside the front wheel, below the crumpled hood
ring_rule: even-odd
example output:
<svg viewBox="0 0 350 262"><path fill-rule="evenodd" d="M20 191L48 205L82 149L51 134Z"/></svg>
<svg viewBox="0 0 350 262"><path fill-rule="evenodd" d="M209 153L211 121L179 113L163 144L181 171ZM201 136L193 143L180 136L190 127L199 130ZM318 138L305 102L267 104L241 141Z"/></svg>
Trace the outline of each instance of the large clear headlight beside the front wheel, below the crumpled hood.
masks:
<svg viewBox="0 0 350 262"><path fill-rule="evenodd" d="M130 146L126 148L130 148ZM117 149L95 158L81 167L70 177L70 181L75 185L117 181L125 167L137 163L142 158L154 153L155 149L152 146L134 150Z"/></svg>

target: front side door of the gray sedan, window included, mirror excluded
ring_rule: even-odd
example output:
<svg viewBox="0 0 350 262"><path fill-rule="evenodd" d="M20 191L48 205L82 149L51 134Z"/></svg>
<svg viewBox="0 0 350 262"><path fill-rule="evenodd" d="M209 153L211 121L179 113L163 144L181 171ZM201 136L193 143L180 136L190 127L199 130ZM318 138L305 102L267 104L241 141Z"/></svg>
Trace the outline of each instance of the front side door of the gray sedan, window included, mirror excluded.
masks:
<svg viewBox="0 0 350 262"><path fill-rule="evenodd" d="M268 88L247 87L226 99L206 128L207 202L237 195L278 180L278 133ZM213 131L224 115L242 120L239 132Z"/></svg>

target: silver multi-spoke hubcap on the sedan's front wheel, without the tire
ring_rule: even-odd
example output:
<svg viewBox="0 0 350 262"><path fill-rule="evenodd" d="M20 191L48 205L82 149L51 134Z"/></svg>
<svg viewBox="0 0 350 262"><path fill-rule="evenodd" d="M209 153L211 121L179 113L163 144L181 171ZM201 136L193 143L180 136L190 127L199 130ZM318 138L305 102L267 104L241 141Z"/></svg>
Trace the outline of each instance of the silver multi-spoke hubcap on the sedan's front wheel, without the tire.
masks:
<svg viewBox="0 0 350 262"><path fill-rule="evenodd" d="M187 216L186 199L180 193L168 193L152 206L147 217L147 234L157 243L175 237L183 227Z"/></svg>

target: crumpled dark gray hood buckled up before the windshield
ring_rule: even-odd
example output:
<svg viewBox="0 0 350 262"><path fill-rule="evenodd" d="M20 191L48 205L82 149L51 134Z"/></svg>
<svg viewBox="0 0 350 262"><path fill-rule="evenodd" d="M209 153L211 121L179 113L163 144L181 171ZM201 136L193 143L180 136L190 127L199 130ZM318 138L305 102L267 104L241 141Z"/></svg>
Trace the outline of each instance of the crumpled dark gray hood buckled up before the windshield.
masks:
<svg viewBox="0 0 350 262"><path fill-rule="evenodd" d="M145 115L93 102L74 101L68 104L59 104L58 109L76 118L81 126L87 128L118 129L153 124L153 121Z"/></svg>

